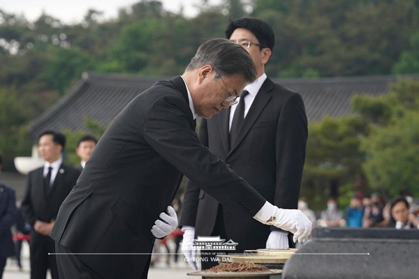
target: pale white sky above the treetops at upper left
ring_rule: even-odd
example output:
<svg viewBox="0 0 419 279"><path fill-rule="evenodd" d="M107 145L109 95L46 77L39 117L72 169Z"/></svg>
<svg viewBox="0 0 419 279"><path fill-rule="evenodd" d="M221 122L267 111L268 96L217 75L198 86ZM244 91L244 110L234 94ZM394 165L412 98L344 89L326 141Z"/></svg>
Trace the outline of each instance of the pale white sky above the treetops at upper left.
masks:
<svg viewBox="0 0 419 279"><path fill-rule="evenodd" d="M139 1L139 0L138 0ZM126 8L135 0L0 0L0 9L6 13L23 14L33 22L44 11L47 15L58 18L61 22L72 24L81 22L87 10L93 8L103 11L105 19L117 17L119 8ZM184 6L184 14L193 17L198 12L196 6L202 3L200 0L160 0L165 10L178 13L181 5ZM221 0L209 0L208 3L216 5Z"/></svg>

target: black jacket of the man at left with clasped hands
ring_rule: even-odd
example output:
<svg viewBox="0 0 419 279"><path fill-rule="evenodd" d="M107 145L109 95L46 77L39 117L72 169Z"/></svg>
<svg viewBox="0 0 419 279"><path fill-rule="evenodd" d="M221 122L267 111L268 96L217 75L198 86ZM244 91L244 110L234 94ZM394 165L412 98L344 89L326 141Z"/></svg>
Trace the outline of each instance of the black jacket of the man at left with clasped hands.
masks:
<svg viewBox="0 0 419 279"><path fill-rule="evenodd" d="M61 164L52 188L44 185L43 167L29 172L27 188L22 199L22 212L31 227L36 220L51 222L57 218L59 206L75 186L80 172L74 167ZM31 241L45 239L45 236L32 232Z"/></svg>

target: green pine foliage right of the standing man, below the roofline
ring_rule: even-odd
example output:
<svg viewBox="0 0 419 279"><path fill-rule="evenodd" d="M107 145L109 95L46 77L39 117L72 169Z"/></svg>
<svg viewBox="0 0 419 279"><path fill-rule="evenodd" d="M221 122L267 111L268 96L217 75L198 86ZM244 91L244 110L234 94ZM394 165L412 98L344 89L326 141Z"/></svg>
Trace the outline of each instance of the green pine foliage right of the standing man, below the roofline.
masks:
<svg viewBox="0 0 419 279"><path fill-rule="evenodd" d="M302 195L315 209L330 195L374 190L419 195L419 82L399 80L386 96L355 96L353 116L309 125Z"/></svg>

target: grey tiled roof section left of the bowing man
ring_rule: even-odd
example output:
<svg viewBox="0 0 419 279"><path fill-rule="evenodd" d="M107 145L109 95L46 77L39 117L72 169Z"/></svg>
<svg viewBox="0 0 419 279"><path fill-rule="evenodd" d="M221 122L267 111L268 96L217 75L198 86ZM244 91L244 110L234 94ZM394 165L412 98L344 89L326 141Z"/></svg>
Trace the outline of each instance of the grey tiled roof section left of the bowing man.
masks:
<svg viewBox="0 0 419 279"><path fill-rule="evenodd" d="M155 77L83 73L82 79L57 103L29 123L32 139L44 130L84 130L85 120L108 126L138 94L156 82Z"/></svg>

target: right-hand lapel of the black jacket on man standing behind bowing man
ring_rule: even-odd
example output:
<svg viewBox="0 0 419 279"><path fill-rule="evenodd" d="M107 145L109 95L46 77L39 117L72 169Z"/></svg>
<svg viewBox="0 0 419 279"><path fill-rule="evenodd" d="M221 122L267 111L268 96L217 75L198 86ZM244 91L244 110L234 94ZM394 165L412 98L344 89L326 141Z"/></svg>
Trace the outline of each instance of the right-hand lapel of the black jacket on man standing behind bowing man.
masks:
<svg viewBox="0 0 419 279"><path fill-rule="evenodd" d="M263 112L263 109L265 108L267 103L269 103L270 98L272 98L272 94L270 93L270 91L272 91L273 88L274 84L272 80L270 80L270 78L268 77L265 80L265 82L263 82L262 87L260 87L255 100L253 100L250 110L247 113L246 118L244 118L242 128L240 128L240 133L237 136L237 141L231 146L230 153L228 153L228 155L230 155L237 148L237 146L240 144L240 142L242 142L247 133L249 133L251 126L253 126L253 123L255 123L256 119L258 119L259 115Z"/></svg>

